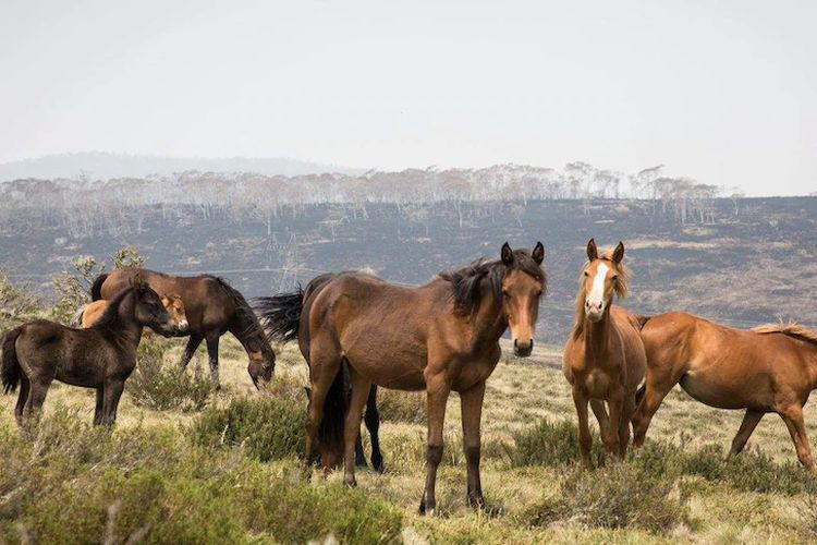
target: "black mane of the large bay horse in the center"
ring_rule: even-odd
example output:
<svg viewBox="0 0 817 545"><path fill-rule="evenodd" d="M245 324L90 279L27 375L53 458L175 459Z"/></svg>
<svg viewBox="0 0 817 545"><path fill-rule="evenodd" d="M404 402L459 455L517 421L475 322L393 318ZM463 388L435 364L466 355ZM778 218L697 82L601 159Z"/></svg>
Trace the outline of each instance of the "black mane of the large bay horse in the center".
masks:
<svg viewBox="0 0 817 545"><path fill-rule="evenodd" d="M461 269L440 272L440 278L451 282L454 307L462 315L470 315L476 311L480 301L480 288L484 282L490 284L493 296L502 300L502 280L511 270L521 270L542 282L542 291L547 291L548 278L526 250L513 251L513 264L508 267L501 261L488 261L485 257L473 262Z"/></svg>

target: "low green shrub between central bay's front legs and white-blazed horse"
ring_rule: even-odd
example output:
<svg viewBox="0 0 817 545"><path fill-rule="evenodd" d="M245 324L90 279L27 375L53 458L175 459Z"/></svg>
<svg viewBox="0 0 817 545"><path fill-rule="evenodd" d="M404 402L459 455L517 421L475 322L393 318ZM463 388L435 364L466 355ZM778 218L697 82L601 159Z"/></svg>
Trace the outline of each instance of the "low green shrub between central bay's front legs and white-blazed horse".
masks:
<svg viewBox="0 0 817 545"><path fill-rule="evenodd" d="M590 458L595 465L605 460L603 446L593 433ZM581 460L578 428L569 421L552 423L542 420L536 426L514 432L515 446L509 449L512 465L564 465Z"/></svg>

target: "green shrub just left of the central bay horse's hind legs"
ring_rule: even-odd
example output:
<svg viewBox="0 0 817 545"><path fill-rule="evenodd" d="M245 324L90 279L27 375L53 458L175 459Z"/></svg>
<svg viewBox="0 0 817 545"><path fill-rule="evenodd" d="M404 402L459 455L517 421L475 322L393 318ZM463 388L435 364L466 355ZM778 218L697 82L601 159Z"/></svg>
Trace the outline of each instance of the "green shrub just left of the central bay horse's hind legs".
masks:
<svg viewBox="0 0 817 545"><path fill-rule="evenodd" d="M261 461L303 456L306 431L304 404L277 398L233 399L224 409L208 409L190 428L197 445L243 445Z"/></svg>

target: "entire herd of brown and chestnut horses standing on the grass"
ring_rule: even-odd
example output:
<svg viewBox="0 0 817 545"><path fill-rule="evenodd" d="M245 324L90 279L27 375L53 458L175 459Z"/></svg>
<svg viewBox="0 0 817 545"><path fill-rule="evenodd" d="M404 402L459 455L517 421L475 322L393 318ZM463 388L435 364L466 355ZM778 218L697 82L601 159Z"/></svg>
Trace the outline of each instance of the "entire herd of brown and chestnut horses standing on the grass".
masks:
<svg viewBox="0 0 817 545"><path fill-rule="evenodd" d="M672 312L644 316L614 305L627 294L631 271L624 245L600 253L593 239L580 276L575 322L563 358L580 428L582 459L590 465L588 405L606 450L626 455L643 444L650 420L673 386L711 407L745 409L730 453L739 453L764 414L778 413L800 461L815 471L803 405L817 387L817 334L796 324L732 329ZM296 340L309 367L305 464L316 455L325 469L343 467L355 485L365 464L361 421L371 435L371 463L382 470L377 387L425 390L426 483L420 512L436 508L443 419L451 391L460 395L467 499L485 505L479 477L480 420L486 379L510 330L513 352L531 355L539 302L547 291L545 249L502 245L499 259L479 259L406 288L364 272L326 274L306 288L260 298L256 307L223 279L178 277L146 269L101 275L95 302L66 327L34 320L2 342L0 378L7 392L20 387L15 416L37 413L53 379L97 390L95 424L112 424L124 383L136 365L144 328L186 336L182 365L207 342L218 385L218 346L233 334L249 359L253 383L271 380L271 341Z"/></svg>

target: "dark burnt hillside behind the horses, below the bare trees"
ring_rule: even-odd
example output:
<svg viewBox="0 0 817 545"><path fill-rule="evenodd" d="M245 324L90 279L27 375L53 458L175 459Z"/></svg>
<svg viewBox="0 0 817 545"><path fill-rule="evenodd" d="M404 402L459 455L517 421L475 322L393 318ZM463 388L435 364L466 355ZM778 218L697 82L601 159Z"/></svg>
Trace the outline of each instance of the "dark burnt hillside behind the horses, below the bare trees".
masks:
<svg viewBox="0 0 817 545"><path fill-rule="evenodd" d="M4 208L2 267L44 292L77 255L133 244L148 266L217 272L247 295L306 282L326 270L368 267L406 284L500 245L541 240L550 289L537 335L561 343L573 317L584 245L624 241L632 298L643 313L687 310L748 327L778 317L817 325L817 198L712 199L705 222L686 222L657 201L528 199L313 204L272 211L239 206L139 205L112 211ZM86 218L87 216L87 218Z"/></svg>

